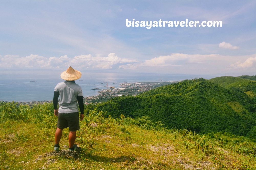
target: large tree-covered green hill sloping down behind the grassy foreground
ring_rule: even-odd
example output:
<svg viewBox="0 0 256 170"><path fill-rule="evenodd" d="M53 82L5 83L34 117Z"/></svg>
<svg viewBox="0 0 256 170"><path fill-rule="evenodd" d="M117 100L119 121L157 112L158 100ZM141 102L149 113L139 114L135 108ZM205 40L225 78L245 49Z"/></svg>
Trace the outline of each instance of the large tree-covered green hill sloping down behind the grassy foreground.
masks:
<svg viewBox="0 0 256 170"><path fill-rule="evenodd" d="M93 108L113 117L149 116L167 128L185 128L200 134L222 131L254 137L254 131L250 131L255 125L254 101L240 90L225 88L230 84L218 85L202 78L184 80L136 97L117 97Z"/></svg>

